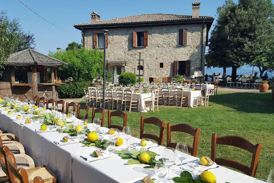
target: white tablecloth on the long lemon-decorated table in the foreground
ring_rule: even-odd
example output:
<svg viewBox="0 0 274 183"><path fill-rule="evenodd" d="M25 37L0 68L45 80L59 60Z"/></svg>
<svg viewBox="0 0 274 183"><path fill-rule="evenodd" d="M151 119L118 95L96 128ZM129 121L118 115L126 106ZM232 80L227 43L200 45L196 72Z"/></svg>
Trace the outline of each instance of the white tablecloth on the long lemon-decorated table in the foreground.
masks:
<svg viewBox="0 0 274 183"><path fill-rule="evenodd" d="M0 113L1 128L4 128L9 133L15 134L25 147L26 154L33 158L35 166L45 164L55 172L61 183L133 183L147 174L154 173L153 169L144 169L143 173L138 172L134 169L136 167L143 167L144 165L127 165L127 160L121 159L118 155L96 162L86 162L80 158L80 155L92 153L97 149L96 147L81 147L81 143L57 146L53 141L61 140L66 134L58 132L38 134L35 132L35 129L39 129L41 124L21 125L21 123L25 121L24 119L14 121L11 120L11 118L15 118L16 115L5 116L5 114L7 114L6 111L1 111ZM130 122L128 125L130 126ZM89 128L90 130L95 130L92 126ZM108 128L100 127L100 130L107 132ZM105 135L105 138L107 138L107 136L108 135ZM130 140L139 139L131 137ZM116 147L116 149L124 147L125 143L120 147ZM160 156L156 156L157 158L162 158L163 146L150 148L150 150L160 154ZM183 163L186 164L188 161L198 161L198 158L189 155ZM180 160L177 159L176 165L172 166L172 169L179 168ZM245 174L221 166L209 171L215 174L218 183L250 183L254 180L254 178ZM178 175L171 171L171 176L175 177ZM155 176L153 177L156 178ZM166 180L163 182L166 182Z"/></svg>

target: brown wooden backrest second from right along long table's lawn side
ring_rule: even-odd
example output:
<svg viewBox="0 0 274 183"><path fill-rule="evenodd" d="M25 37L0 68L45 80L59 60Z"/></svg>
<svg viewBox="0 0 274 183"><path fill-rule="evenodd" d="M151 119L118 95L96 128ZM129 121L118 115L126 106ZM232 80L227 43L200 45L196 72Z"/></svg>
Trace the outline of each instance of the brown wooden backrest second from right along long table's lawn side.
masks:
<svg viewBox="0 0 274 183"><path fill-rule="evenodd" d="M199 136L201 133L200 128L193 128L189 124L177 124L171 125L171 123L167 124L166 129L166 146L171 148L176 148L177 143L171 143L171 132L184 132L190 134L194 137L192 147L188 146L188 152L191 156L197 156Z"/></svg>

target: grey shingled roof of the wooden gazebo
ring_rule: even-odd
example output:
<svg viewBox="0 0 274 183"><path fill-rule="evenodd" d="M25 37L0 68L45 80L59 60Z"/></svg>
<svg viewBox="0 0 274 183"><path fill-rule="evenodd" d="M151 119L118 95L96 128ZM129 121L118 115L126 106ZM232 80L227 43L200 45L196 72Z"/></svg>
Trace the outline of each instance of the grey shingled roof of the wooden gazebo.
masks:
<svg viewBox="0 0 274 183"><path fill-rule="evenodd" d="M10 55L6 65L65 66L68 63L55 59L31 48Z"/></svg>

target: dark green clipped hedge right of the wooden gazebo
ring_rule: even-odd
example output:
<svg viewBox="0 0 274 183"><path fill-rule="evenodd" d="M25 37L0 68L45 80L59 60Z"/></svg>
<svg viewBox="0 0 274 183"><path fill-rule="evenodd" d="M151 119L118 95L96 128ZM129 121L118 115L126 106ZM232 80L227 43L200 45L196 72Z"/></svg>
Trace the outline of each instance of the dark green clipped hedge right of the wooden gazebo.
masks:
<svg viewBox="0 0 274 183"><path fill-rule="evenodd" d="M58 87L59 98L81 98L84 87L90 87L90 81L69 82Z"/></svg>

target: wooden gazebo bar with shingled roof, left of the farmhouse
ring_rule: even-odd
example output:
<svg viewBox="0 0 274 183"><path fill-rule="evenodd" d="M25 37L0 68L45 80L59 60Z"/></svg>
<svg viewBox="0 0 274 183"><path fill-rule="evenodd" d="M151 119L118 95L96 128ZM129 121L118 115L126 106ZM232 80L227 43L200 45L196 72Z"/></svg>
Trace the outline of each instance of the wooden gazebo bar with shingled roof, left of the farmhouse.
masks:
<svg viewBox="0 0 274 183"><path fill-rule="evenodd" d="M25 49L10 55L7 63L5 63L1 80L10 81L14 98L32 100L33 96L43 96L56 99L58 98L58 85L64 84L58 82L57 67L65 65L68 64L33 49ZM15 73L15 66L24 67L25 83L15 81L20 79ZM50 83L48 82L48 69L51 71Z"/></svg>

